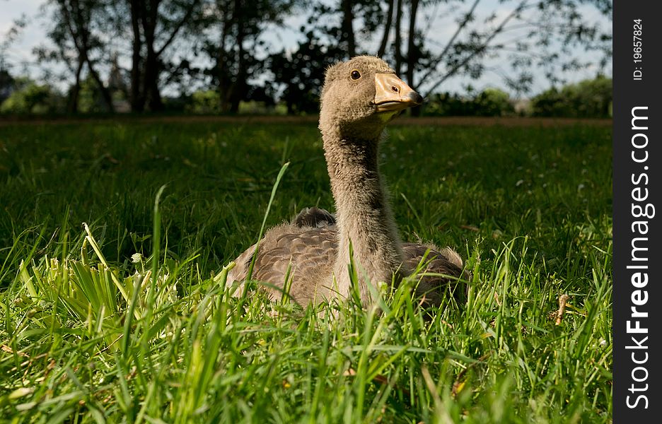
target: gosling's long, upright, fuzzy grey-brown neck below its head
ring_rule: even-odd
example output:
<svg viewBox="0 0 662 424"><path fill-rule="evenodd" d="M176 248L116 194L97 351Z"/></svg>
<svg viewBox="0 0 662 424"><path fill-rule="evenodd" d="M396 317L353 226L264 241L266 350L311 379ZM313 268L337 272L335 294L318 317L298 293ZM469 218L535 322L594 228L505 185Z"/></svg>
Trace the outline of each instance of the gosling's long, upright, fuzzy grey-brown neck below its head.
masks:
<svg viewBox="0 0 662 424"><path fill-rule="evenodd" d="M381 132L381 131L380 131ZM323 131L327 170L336 203L339 249L334 275L339 295L349 294L349 245L359 276L364 305L371 303L366 283L390 283L402 264L402 247L388 195L379 173L381 135L369 139L348 136L337 127Z"/></svg>

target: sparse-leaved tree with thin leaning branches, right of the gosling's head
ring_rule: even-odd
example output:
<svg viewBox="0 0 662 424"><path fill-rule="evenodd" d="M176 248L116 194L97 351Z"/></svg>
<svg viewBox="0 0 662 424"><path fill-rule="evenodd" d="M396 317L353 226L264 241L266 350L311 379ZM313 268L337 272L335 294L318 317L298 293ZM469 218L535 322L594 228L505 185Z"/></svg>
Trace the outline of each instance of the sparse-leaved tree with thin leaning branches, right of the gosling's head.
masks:
<svg viewBox="0 0 662 424"><path fill-rule="evenodd" d="M563 71L572 71L590 63L577 57L571 47L583 46L586 51L603 53L600 65L608 63L611 54L610 29L600 29L596 22L583 20L579 6L593 6L609 16L611 1L605 0L504 0L509 6L503 13L491 13L479 19L473 0L468 11L460 15L455 33L439 54L429 63L414 86L426 86L431 93L448 78L460 71L479 77L494 71L506 86L516 92L528 92L533 76L530 68L539 66L550 81L561 81ZM505 56L510 69L499 66L487 69L485 59Z"/></svg>

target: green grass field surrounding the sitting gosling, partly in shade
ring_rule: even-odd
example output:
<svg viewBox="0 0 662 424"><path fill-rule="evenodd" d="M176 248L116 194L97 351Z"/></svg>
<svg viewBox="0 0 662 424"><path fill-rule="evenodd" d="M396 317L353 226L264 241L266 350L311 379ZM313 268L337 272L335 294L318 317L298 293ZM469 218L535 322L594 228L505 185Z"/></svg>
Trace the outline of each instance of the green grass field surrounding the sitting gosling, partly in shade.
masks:
<svg viewBox="0 0 662 424"><path fill-rule="evenodd" d="M267 226L333 208L313 123L1 126L0 420L610 422L610 127L389 134L403 239L472 271L428 318L223 292L281 165Z"/></svg>

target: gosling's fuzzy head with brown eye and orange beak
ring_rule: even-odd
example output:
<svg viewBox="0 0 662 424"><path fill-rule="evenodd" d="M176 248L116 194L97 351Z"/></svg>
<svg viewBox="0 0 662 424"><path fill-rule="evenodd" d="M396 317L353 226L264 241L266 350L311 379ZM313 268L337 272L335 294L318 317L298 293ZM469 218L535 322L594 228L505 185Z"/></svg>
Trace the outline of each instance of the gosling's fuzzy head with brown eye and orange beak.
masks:
<svg viewBox="0 0 662 424"><path fill-rule="evenodd" d="M320 100L323 133L338 129L343 135L361 139L378 137L402 110L423 102L385 61L373 56L358 56L331 66Z"/></svg>

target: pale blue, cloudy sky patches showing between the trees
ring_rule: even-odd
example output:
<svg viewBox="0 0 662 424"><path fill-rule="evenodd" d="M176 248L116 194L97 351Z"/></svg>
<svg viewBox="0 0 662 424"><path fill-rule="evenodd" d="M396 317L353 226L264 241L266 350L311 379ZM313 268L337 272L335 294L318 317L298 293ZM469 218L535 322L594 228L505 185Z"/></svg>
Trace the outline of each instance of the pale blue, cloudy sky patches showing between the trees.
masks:
<svg viewBox="0 0 662 424"><path fill-rule="evenodd" d="M23 13L25 13L30 19L30 23L25 30L23 30L21 37L19 37L6 52L6 60L12 66L14 73L22 73L24 70L27 70L34 78L40 77L40 69L33 64L34 57L32 50L37 45L47 42L45 39L47 16L40 12L40 6L44 3L44 0L0 0L0 10L2 10L2 13L0 14L0 37L4 37L6 31L11 28L13 20L19 18ZM468 8L468 4L465 4L462 7ZM477 8L477 15L487 16L488 13L495 12L497 16L505 16L506 13L509 13L511 8L512 4L509 3L501 4L498 0L484 0ZM432 20L430 25L429 33L429 37L432 40L432 43L434 43L431 44L433 47L434 45L443 45L443 42L448 40L455 31L455 24L452 18L443 16L442 12L444 10L445 9L441 7L437 10L434 8L424 9L424 13L429 13L434 16L434 20ZM610 27L610 21L601 16L598 11L585 6L582 7L582 10L587 20L596 20L600 25L603 25L603 28ZM422 15L423 13L419 15L419 18L422 18ZM287 49L293 48L301 37L298 33L298 27L303 23L303 20L305 20L305 16L294 16L289 18L286 20L284 28L274 28L274 30L268 33L267 39L277 49L280 49L281 47L286 47ZM364 45L367 47L368 51L370 49L376 49L377 40L370 40L364 43ZM439 49L441 49L441 47L439 47ZM472 80L467 76L458 75L446 81L440 89L443 91L463 93L465 91L465 86L469 83L477 88L477 90L482 90L487 87L504 88L504 83L499 77L499 71L504 72L507 71L507 69L501 66L500 61L503 61L503 59L496 58L487 62L487 66L494 70L484 73L484 76L478 80ZM581 81L585 78L592 78L596 75L597 71L597 67L594 66L593 68L566 75L565 77L570 82ZM611 70L608 69L607 73L610 75ZM532 93L539 93L540 91L549 88L549 86L550 83L545 80L542 73L540 71L535 71L535 83L533 85Z"/></svg>

